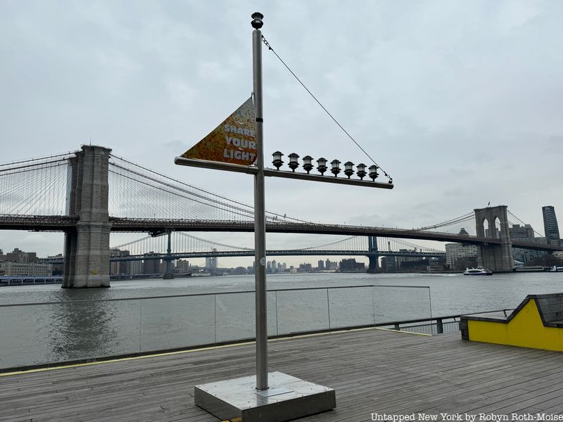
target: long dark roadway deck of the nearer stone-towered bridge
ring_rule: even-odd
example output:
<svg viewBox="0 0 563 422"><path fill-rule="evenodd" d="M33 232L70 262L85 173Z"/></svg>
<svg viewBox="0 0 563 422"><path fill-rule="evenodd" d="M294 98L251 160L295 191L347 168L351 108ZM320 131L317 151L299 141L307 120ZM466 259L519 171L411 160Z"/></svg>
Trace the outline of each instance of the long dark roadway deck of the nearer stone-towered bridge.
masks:
<svg viewBox="0 0 563 422"><path fill-rule="evenodd" d="M0 230L67 231L76 226L78 217L65 215L0 215ZM112 231L164 233L174 231L232 231L253 232L254 223L234 220L196 220L196 219L133 219L110 217ZM374 226L350 226L343 224L315 224L294 222L266 222L270 233L338 234L348 236L379 236L389 238L408 238L426 241L464 243L470 245L500 244L500 239L415 229L392 229ZM514 248L563 250L561 246L547 243L512 241Z"/></svg>

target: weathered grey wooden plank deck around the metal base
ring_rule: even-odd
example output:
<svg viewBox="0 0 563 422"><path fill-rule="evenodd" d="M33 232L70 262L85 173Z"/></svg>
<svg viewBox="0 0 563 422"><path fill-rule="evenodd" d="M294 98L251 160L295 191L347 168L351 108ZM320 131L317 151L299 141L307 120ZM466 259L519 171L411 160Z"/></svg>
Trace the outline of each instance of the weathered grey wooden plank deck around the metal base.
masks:
<svg viewBox="0 0 563 422"><path fill-rule="evenodd" d="M270 370L336 389L336 410L300 421L563 412L563 353L469 343L460 333L277 340ZM194 385L253 372L254 346L238 345L0 376L0 421L217 421L194 406Z"/></svg>

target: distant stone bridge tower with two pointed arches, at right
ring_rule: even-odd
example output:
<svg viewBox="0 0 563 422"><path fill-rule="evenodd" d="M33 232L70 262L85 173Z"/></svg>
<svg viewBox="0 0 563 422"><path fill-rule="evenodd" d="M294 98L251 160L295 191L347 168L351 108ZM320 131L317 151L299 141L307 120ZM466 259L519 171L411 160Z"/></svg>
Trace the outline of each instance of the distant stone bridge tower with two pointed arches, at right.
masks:
<svg viewBox="0 0 563 422"><path fill-rule="evenodd" d="M507 206L499 205L498 207L486 207L474 211L477 236L488 238L500 236L500 245L488 243L477 247L479 265L493 272L512 271L514 262L512 260L512 241L508 230ZM497 232L495 225L496 219L500 221L499 232ZM485 221L488 224L487 232L484 227Z"/></svg>

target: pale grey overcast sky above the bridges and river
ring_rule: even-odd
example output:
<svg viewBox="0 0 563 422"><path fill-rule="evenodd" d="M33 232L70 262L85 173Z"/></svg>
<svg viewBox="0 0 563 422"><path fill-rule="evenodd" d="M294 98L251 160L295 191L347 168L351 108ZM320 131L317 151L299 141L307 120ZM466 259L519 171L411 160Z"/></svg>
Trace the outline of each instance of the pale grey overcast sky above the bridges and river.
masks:
<svg viewBox="0 0 563 422"><path fill-rule="evenodd" d="M410 228L491 201L541 233L542 205L563 219L563 3L556 0L2 0L0 161L91 140L252 203L248 175L172 160L251 94L253 11L265 15L272 47L396 185L267 179L268 210ZM369 165L277 58L263 56L267 162L279 149ZM252 244L251 235L206 236ZM268 247L315 242L278 235ZM62 251L60 235L0 232L0 248L15 246Z"/></svg>

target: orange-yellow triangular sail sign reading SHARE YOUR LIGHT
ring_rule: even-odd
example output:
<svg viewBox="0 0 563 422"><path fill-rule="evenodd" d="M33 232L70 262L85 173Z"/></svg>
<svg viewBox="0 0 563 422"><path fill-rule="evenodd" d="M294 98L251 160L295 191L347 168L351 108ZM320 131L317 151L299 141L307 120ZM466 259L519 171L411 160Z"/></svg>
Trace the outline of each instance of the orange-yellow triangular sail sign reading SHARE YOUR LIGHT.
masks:
<svg viewBox="0 0 563 422"><path fill-rule="evenodd" d="M182 157L251 165L258 153L252 97Z"/></svg>

